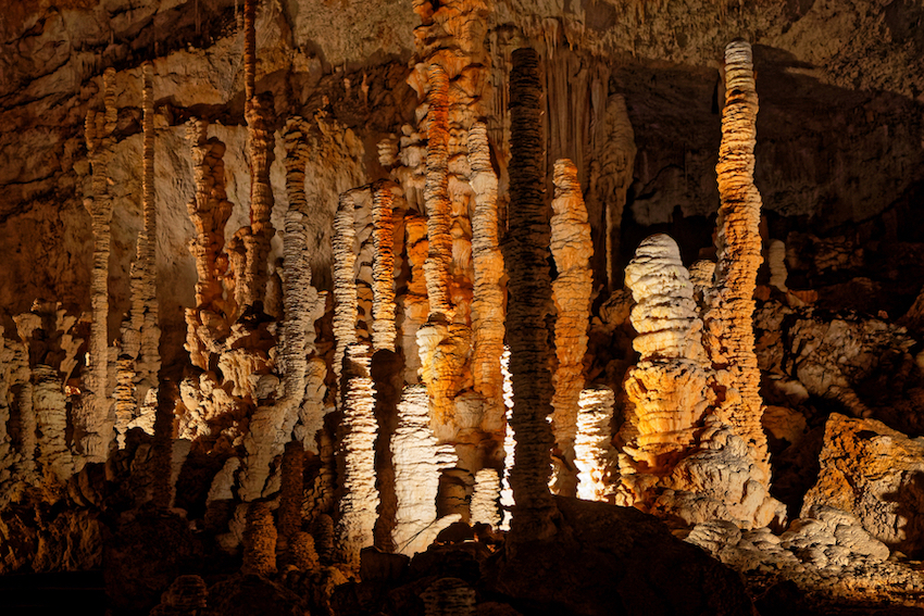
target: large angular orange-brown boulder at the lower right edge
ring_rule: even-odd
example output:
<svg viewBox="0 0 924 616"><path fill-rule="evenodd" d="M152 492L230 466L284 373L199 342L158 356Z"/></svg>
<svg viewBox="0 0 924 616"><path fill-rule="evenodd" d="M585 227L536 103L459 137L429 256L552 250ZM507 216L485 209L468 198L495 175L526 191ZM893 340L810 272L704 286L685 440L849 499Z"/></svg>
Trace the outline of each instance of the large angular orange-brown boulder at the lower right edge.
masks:
<svg viewBox="0 0 924 616"><path fill-rule="evenodd" d="M815 505L857 516L879 541L906 554L924 549L924 443L875 419L833 413L825 425L817 483L802 515Z"/></svg>

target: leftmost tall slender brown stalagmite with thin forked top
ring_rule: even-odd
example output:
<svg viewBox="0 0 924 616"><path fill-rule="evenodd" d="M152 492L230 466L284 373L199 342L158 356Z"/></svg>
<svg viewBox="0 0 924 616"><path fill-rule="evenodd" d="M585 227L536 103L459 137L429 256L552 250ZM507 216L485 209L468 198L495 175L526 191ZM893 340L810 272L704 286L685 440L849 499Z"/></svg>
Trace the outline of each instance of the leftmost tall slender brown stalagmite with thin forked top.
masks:
<svg viewBox="0 0 924 616"><path fill-rule="evenodd" d="M103 74L103 113L87 112L85 137L87 154L92 165L92 196L84 198L84 206L92 217L93 267L90 273L90 349L87 385L91 392L85 406L82 438L83 450L88 461L99 462L109 454L109 443L115 417L109 398L109 253L110 223L112 222L112 198L109 194L109 172L115 148L115 70L107 68Z"/></svg>

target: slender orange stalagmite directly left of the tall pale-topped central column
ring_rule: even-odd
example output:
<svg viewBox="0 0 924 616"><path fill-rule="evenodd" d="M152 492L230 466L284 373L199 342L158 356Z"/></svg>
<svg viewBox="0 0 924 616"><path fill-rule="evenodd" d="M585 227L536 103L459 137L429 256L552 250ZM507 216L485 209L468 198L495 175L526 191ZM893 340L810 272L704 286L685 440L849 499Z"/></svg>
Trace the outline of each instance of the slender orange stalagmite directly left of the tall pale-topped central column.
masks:
<svg viewBox="0 0 924 616"><path fill-rule="evenodd" d="M449 268L452 239L449 235L449 77L438 64L427 72L427 173L424 202L427 213L428 253L424 263L429 301L429 320L451 320Z"/></svg>

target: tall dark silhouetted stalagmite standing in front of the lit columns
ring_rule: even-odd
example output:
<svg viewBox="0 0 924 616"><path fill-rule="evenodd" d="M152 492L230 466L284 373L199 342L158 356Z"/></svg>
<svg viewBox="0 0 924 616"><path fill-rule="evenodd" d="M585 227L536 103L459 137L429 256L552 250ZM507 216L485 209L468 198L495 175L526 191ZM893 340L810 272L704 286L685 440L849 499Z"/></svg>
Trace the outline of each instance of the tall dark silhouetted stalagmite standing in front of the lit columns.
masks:
<svg viewBox="0 0 924 616"><path fill-rule="evenodd" d="M548 331L551 312L549 223L544 208L541 80L533 49L513 52L510 76L511 152L509 243L504 254L508 340L513 381L515 462L510 485L515 501L511 539L526 541L555 532L557 510L549 492L552 411Z"/></svg>

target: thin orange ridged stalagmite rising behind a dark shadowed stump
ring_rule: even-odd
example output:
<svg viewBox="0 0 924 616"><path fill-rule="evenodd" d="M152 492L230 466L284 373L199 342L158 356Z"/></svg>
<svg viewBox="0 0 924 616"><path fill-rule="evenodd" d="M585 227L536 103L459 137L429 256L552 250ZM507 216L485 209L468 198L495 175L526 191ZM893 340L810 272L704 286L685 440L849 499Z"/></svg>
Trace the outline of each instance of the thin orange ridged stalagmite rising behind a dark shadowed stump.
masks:
<svg viewBox="0 0 924 616"><path fill-rule="evenodd" d="M372 193L372 240L375 249L372 265L372 344L373 349L395 350L395 227L391 219L390 183L377 183Z"/></svg>

